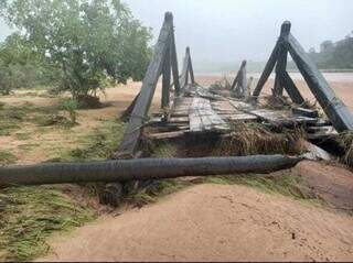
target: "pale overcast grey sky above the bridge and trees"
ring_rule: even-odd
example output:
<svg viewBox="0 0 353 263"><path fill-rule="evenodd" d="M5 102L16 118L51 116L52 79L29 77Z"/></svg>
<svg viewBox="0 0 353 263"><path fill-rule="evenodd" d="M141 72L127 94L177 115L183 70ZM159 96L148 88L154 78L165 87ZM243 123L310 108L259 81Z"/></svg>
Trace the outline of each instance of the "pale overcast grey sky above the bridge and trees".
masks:
<svg viewBox="0 0 353 263"><path fill-rule="evenodd" d="M122 0L145 25L161 28L172 11L179 56L190 45L195 62L266 61L285 20L304 48L353 30L353 0ZM9 34L0 21L0 40Z"/></svg>

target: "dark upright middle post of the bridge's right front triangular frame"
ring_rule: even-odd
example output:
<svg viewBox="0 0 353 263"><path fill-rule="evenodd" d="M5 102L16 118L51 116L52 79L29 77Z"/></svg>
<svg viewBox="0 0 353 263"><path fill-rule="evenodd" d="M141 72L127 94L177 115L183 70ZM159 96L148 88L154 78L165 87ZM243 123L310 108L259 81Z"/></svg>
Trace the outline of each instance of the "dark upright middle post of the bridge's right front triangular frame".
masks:
<svg viewBox="0 0 353 263"><path fill-rule="evenodd" d="M276 66L276 79L275 79L275 96L282 96L284 95L284 83L281 81L281 75L285 74L287 69L287 57L288 57L288 50L286 46L286 42L288 40L288 35L290 33L291 24L289 21L285 21L280 29L280 36L278 40L279 51L278 51L278 61Z"/></svg>

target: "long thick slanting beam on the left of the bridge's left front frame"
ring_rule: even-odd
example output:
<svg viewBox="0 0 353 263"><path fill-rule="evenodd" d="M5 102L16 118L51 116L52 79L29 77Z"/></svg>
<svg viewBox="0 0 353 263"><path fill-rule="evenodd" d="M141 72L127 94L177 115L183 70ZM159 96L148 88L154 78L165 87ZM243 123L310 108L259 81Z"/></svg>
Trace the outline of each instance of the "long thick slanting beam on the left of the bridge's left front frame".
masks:
<svg viewBox="0 0 353 263"><path fill-rule="evenodd" d="M130 122L125 132L121 144L117 155L133 156L139 139L141 135L141 129L150 109L152 98L154 95L158 78L163 67L164 56L168 50L169 37L173 29L173 14L165 13L164 23L161 29L158 43L154 47L152 59L148 66L146 76L142 81L142 88L140 96L136 102L136 107L132 111Z"/></svg>

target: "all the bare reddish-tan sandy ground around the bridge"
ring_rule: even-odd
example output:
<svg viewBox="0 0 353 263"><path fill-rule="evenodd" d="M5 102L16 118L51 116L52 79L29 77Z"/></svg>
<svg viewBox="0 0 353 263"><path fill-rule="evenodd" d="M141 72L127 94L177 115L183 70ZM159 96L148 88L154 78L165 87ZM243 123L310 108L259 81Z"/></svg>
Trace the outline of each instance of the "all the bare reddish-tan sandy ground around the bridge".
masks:
<svg viewBox="0 0 353 263"><path fill-rule="evenodd" d="M220 76L196 76L210 85ZM304 96L310 92L296 80ZM270 91L272 80L266 85ZM39 163L55 157L53 146L77 146L100 120L117 117L140 89L130 83L101 95L106 107L82 110L79 125L73 132L51 130L33 133L30 152L22 151L14 135L0 136L0 150L14 151L18 163ZM353 81L332 80L332 87L353 110ZM51 107L57 99L32 96L6 97L2 102L31 102ZM158 108L160 87L153 101ZM332 207L353 209L353 174L324 163L303 162L291 173L315 188ZM68 187L64 187L66 190ZM73 190L76 188L73 187ZM84 198L84 197L83 197ZM105 216L71 235L57 237L50 243L52 261L353 261L353 218L341 211L327 210L291 198L267 195L242 186L201 185L165 200L130 210L119 217Z"/></svg>

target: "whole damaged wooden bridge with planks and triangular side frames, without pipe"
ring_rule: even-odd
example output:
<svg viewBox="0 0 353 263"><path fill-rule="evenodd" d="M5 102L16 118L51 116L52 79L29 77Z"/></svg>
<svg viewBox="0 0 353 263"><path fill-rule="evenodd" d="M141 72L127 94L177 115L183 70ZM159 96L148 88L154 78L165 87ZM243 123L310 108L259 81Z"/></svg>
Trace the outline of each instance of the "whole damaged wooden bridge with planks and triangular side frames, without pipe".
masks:
<svg viewBox="0 0 353 263"><path fill-rule="evenodd" d="M290 28L288 21L282 24L279 39L254 90L252 90L254 79L247 79L246 61L242 63L229 87L202 87L195 81L189 47L182 74L179 76L173 17L167 13L141 91L126 112L130 114L130 121L117 157L137 156L142 130L148 131L143 133L145 135L156 140L205 132L229 133L238 122L260 122L286 128L301 127L309 140L353 130L352 113L291 35ZM292 56L325 117L320 118L317 110L310 109L296 87L286 69L288 54ZM264 103L264 97L260 96L274 69L276 79L272 99L267 99L284 102L284 107L279 109L268 107L270 102ZM162 76L161 111L152 112L152 118L149 118L149 108L160 76Z"/></svg>

